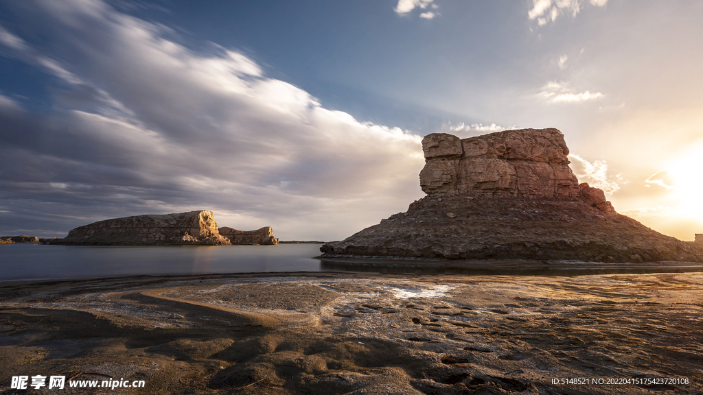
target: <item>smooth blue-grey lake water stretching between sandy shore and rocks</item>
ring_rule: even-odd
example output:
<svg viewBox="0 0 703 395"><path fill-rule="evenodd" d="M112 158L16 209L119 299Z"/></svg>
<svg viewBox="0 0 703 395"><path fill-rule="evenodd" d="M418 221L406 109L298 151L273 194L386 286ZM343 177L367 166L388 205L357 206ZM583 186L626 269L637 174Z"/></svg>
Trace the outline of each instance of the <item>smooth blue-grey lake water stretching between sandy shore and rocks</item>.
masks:
<svg viewBox="0 0 703 395"><path fill-rule="evenodd" d="M469 276L584 276L615 273L703 271L702 264L549 264L534 261L456 263L423 261L335 261L314 259L321 244L75 246L0 245L0 281L53 280L141 275L346 271Z"/></svg>

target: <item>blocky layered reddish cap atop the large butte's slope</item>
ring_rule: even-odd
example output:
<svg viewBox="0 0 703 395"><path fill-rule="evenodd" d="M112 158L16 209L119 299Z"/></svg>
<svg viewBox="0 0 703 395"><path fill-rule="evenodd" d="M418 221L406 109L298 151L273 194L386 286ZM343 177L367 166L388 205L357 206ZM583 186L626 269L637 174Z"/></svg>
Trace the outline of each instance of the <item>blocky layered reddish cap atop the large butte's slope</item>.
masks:
<svg viewBox="0 0 703 395"><path fill-rule="evenodd" d="M569 148L557 129L499 131L463 140L435 133L423 138L423 151L420 187L428 196L579 197Z"/></svg>

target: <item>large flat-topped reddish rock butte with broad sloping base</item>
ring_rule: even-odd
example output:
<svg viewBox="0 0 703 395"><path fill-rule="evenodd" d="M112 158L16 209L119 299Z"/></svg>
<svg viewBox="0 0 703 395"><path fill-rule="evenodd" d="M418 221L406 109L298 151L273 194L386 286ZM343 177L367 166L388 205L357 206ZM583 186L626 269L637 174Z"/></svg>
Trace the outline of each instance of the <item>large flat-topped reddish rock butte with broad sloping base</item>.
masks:
<svg viewBox="0 0 703 395"><path fill-rule="evenodd" d="M618 214L579 183L557 129L423 138L420 186L408 211L321 247L323 257L703 262L683 242Z"/></svg>

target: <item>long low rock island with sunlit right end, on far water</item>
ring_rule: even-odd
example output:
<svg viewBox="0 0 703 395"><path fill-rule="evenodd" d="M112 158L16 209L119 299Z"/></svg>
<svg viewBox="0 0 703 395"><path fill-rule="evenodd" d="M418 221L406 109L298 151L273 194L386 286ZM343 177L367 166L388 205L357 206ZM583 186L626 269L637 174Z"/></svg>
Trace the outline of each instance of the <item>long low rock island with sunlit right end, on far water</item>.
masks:
<svg viewBox="0 0 703 395"><path fill-rule="evenodd" d="M229 245L211 211L138 215L79 226L51 244Z"/></svg>

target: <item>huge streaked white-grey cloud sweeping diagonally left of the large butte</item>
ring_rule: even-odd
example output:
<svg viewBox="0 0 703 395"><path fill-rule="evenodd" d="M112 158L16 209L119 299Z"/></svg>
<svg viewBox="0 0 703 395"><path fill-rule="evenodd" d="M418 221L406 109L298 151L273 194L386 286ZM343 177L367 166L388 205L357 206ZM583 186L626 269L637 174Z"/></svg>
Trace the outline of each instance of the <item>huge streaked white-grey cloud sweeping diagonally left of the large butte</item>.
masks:
<svg viewBox="0 0 703 395"><path fill-rule="evenodd" d="M98 220L213 209L247 221L221 225L329 240L423 195L420 136L328 110L238 51L193 51L101 1L33 5L51 14L38 32L50 50L39 56L4 30L1 44L68 83L51 117L13 115L0 96L0 121L18 128L0 130L11 142L1 163L28 158L25 176L1 187L31 195L34 212Z"/></svg>

